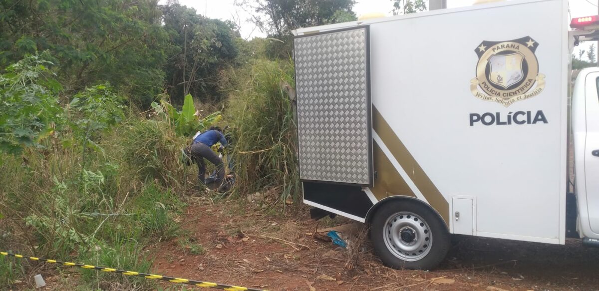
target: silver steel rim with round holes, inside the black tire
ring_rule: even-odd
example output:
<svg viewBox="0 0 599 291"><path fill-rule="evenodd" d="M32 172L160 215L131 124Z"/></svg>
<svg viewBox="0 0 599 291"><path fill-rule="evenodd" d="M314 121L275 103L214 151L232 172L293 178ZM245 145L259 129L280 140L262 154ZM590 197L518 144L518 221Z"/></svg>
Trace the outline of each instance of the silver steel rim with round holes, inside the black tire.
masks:
<svg viewBox="0 0 599 291"><path fill-rule="evenodd" d="M389 216L383 229L383 240L394 256L414 262L431 250L432 234L422 217L404 211Z"/></svg>

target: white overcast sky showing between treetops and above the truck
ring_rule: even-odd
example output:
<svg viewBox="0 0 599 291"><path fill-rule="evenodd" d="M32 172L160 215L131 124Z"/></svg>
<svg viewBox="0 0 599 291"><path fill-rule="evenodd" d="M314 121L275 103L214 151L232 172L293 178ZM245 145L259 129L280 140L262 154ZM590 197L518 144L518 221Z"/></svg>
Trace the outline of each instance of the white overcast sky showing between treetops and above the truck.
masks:
<svg viewBox="0 0 599 291"><path fill-rule="evenodd" d="M252 0L250 0L252 1ZM455 8L472 5L475 0L447 0L447 8ZM571 17L591 16L599 14L597 2L599 0L569 0ZM160 0L164 4L166 0ZM235 0L179 0L181 5L193 7L199 14L210 18L229 19L241 25L241 36L246 39L253 37L264 37L264 34L249 22L250 14L235 6ZM357 0L353 11L359 16L366 13L386 13L391 16L393 2L391 0ZM580 48L588 50L589 44L574 48L574 52ZM595 45L597 46L597 45ZM584 59L585 57L583 57Z"/></svg>

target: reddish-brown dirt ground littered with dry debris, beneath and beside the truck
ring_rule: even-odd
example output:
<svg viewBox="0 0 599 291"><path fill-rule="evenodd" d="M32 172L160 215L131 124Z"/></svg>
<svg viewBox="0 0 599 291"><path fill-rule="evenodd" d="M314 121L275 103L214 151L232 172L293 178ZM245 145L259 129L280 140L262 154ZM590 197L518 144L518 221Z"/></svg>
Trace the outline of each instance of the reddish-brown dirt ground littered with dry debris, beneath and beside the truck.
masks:
<svg viewBox="0 0 599 291"><path fill-rule="evenodd" d="M599 286L599 250L584 248L576 240L564 246L458 238L437 270L400 271L382 266L368 241L352 252L312 235L316 228L350 220L314 222L304 207L273 216L255 204L192 200L181 217L184 234L147 248L155 258L155 274L268 290L596 290Z"/></svg>

